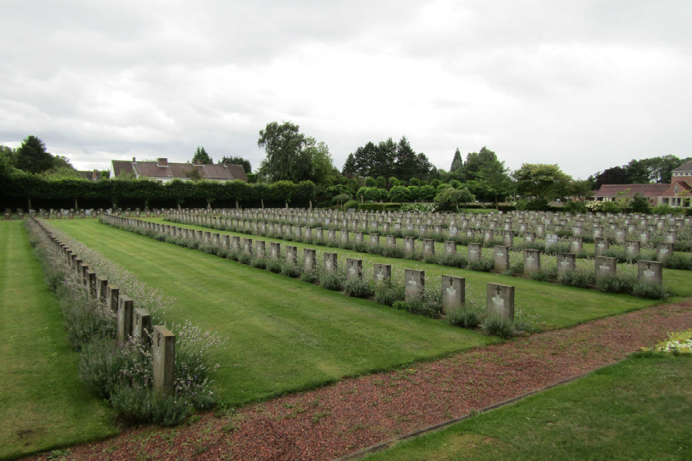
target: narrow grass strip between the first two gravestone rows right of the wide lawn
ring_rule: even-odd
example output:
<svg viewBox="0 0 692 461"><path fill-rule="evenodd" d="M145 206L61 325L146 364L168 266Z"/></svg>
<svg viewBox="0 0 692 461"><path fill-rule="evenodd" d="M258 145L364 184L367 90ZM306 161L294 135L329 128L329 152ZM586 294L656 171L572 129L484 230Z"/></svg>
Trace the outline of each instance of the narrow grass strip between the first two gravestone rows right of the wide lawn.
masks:
<svg viewBox="0 0 692 461"><path fill-rule="evenodd" d="M163 218L147 218L158 223L164 223ZM57 221L51 221L57 222ZM627 312L644 308L649 305L656 305L660 301L650 299L642 299L621 294L610 294L599 292L598 290L585 290L583 288L565 287L556 283L538 282L522 277L503 276L499 274L489 274L486 272L477 272L473 270L458 269L455 267L447 267L439 264L428 264L422 261L410 261L401 258L387 258L376 254L358 253L350 250L343 250L338 247L321 247L320 245L308 245L300 242L288 242L275 238L255 237L248 234L239 234L237 232L223 232L208 227L200 227L195 225L181 225L171 223L178 227L188 227L190 229L199 229L220 234L237 235L244 237L252 237L267 242L277 241L283 245L295 245L298 247L298 254L302 254L302 248L316 248L322 251L336 252L339 256L345 255L352 258L363 258L363 267L372 263L385 263L392 265L392 273L399 271L403 273L403 268L419 269L426 271L426 279L437 279L442 274L455 275L466 279L466 290L471 294L476 294L485 299L486 285L489 282L503 283L505 285L514 285L515 287L515 303L516 307L531 314L536 314L538 318L545 321L547 328L564 328L574 326L578 323L583 323L591 319L608 317L614 314ZM62 225L62 223L61 223ZM401 239L400 239L401 240ZM320 256L318 255L318 260ZM685 270L664 270L664 281L669 280L671 274L675 276L676 292L681 295L689 296L692 294L692 271ZM679 301L679 298L673 298L670 301Z"/></svg>

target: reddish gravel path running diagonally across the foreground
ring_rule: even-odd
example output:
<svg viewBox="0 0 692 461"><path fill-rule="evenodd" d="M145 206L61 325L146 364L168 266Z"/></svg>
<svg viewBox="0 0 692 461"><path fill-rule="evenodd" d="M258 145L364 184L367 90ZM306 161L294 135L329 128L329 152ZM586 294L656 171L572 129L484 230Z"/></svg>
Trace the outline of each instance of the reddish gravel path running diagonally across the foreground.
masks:
<svg viewBox="0 0 692 461"><path fill-rule="evenodd" d="M345 379L172 429L75 446L77 460L325 460L612 364L692 328L692 301ZM46 455L42 458L47 459Z"/></svg>

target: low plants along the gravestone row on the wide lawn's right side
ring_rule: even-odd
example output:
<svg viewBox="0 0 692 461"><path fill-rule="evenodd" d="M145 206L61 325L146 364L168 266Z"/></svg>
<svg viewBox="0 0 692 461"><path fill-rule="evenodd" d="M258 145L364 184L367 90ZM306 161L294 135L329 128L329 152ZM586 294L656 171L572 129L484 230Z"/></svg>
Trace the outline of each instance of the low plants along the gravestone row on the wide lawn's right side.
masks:
<svg viewBox="0 0 692 461"><path fill-rule="evenodd" d="M404 290L404 274L403 272L391 272L391 267L390 276L379 280L374 276L374 265L366 267L362 260L353 260L360 261L359 267L361 269L352 272L347 270L349 263L347 258L338 258L334 253L318 252L306 248L304 254L298 254L296 247L283 245L275 254L272 253L274 250L271 250L271 247L259 254L253 246L253 243L257 245L257 241L253 242L251 238L247 237L212 234L211 232L159 225L111 215L102 216L99 220L103 224L118 229L134 232L158 241L216 254L239 263L264 268L307 283L320 285L327 290L343 292L348 296L371 299L379 304L407 310L413 314L424 315L432 319L446 318L453 325L464 326L465 328L480 328L480 323L475 325L466 323L464 325L458 321L453 321L453 317L449 317L446 312L443 312L442 290L439 280L426 282L425 290L421 292L419 298L407 299ZM333 258L329 258L329 264L326 263L325 255L334 255ZM482 312L479 307L482 305L480 300L471 299L467 303L468 306L465 309ZM538 319L530 317L521 310L518 312L520 314L516 317L517 320L514 324L520 328L516 331L527 332L540 329ZM484 318L484 314L480 314L480 318Z"/></svg>

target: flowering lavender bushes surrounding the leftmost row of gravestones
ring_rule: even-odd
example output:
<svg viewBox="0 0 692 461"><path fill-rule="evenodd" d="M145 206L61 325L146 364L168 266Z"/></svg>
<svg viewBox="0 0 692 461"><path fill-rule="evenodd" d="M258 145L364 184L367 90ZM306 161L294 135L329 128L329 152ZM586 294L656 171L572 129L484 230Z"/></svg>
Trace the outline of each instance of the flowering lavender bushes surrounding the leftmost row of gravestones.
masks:
<svg viewBox="0 0 692 461"><path fill-rule="evenodd" d="M60 302L69 338L80 352L80 378L91 392L109 401L120 422L170 426L185 421L194 410L215 406L212 375L219 365L210 362L221 339L188 321L173 323L172 374L169 369L162 387L155 388L161 361L154 364L152 335L168 330L156 326L122 335L126 323L118 323L118 314L131 314L125 309L130 303L130 308L138 308L135 314L143 326L163 323L165 308L174 299L43 222L26 220L26 227ZM116 306L122 306L118 312Z"/></svg>

